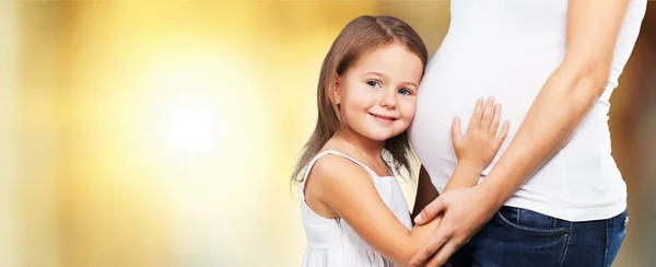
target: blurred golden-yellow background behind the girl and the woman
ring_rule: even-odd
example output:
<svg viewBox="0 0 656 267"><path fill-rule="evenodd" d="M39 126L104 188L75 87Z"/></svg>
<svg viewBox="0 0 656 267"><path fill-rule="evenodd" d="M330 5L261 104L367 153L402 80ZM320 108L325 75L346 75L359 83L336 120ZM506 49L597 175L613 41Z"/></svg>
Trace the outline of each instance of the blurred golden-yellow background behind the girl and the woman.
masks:
<svg viewBox="0 0 656 267"><path fill-rule="evenodd" d="M0 1L0 267L298 266L289 175L323 57L362 14L431 54L448 1ZM656 2L612 98L631 227L655 266ZM414 184L401 181L409 204Z"/></svg>

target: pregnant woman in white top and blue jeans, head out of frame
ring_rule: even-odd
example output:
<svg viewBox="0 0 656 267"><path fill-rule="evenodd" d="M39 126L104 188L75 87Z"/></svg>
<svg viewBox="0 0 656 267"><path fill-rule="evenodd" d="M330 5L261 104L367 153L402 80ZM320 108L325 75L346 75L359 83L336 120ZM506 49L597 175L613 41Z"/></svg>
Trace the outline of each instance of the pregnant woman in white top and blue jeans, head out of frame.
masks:
<svg viewBox="0 0 656 267"><path fill-rule="evenodd" d="M646 0L452 1L410 128L424 164L413 216L442 223L411 265L450 257L455 266L610 266L628 216L609 98L645 8ZM508 138L471 187L435 199L457 163L453 118L469 118L481 96L503 105Z"/></svg>

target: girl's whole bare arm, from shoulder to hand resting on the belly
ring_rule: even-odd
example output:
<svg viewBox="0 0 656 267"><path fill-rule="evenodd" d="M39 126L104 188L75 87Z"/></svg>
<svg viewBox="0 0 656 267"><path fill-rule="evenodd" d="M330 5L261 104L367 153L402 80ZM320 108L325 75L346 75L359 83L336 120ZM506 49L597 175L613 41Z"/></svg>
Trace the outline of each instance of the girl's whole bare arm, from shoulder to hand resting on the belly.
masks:
<svg viewBox="0 0 656 267"><path fill-rule="evenodd" d="M488 105L492 111L493 101ZM507 125L497 136L501 113L490 111L483 112L482 101L477 102L465 137L460 134L458 120L455 120L453 137L459 160L453 181L478 181L481 171L492 161L505 139ZM316 199L345 220L374 249L397 265L407 266L441 221L435 219L408 231L380 199L368 173L342 156L329 154L321 158L315 163L311 176L313 187L320 188L314 191ZM424 184L430 183L427 173L423 177ZM424 189L430 186L424 186Z"/></svg>

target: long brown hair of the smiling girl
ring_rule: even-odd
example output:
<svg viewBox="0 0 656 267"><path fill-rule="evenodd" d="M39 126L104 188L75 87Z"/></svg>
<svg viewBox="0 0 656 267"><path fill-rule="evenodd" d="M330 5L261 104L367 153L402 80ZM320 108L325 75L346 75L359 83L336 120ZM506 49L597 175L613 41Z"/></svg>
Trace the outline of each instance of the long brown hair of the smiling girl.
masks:
<svg viewBox="0 0 656 267"><path fill-rule="evenodd" d="M417 55L425 67L429 56L423 40L410 25L394 16L360 16L347 24L337 36L324 59L319 74L317 125L303 148L292 173L292 182L302 182L305 166L342 124L338 116L337 104L330 97L336 79L344 74L366 53L393 44L406 47ZM407 131L385 141L385 151L391 156L393 171L398 174L401 169L406 169L412 173L409 160L412 149Z"/></svg>

